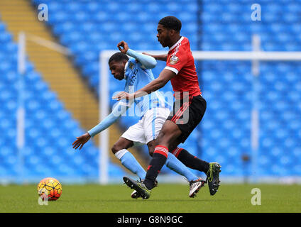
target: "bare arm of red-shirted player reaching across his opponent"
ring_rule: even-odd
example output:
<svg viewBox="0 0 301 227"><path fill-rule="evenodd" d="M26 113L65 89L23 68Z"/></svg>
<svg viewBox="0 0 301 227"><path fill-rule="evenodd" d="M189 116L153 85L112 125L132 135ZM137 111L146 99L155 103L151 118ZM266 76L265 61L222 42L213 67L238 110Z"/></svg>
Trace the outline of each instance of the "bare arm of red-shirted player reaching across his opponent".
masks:
<svg viewBox="0 0 301 227"><path fill-rule="evenodd" d="M119 92L116 96L113 96L113 99L121 100L121 99L135 99L141 96L145 96L150 94L151 92L155 92L161 87L164 87L167 82L170 81L173 77L175 77L175 72L171 70L164 69L160 72L159 77L154 79L152 82L147 84L145 87L139 89L137 92L129 94L127 92Z"/></svg>

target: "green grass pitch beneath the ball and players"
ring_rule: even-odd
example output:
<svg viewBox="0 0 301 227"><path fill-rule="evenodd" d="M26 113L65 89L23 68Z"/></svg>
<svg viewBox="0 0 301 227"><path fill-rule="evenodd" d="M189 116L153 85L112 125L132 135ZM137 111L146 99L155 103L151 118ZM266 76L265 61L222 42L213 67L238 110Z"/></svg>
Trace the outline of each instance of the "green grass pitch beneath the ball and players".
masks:
<svg viewBox="0 0 301 227"><path fill-rule="evenodd" d="M261 189L261 205L253 206L253 188ZM159 184L147 200L131 199L125 184L64 185L57 201L38 204L36 185L0 186L0 212L202 213L301 212L301 185L221 184L209 195L207 184L197 197L188 197L188 184Z"/></svg>

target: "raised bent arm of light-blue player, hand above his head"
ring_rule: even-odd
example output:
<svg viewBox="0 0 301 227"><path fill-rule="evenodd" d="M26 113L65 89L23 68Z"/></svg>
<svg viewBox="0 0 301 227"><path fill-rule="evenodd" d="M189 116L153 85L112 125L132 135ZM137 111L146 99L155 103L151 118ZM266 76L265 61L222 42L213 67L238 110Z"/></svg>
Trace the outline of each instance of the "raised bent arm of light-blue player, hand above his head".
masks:
<svg viewBox="0 0 301 227"><path fill-rule="evenodd" d="M141 65L143 65L143 67L147 70L151 70L157 65L157 61L154 57L151 57L149 55L143 55L141 53L136 52L135 50L131 50L130 48L128 48L128 44L124 41L118 43L117 47L121 52L138 60L138 62L140 62Z"/></svg>

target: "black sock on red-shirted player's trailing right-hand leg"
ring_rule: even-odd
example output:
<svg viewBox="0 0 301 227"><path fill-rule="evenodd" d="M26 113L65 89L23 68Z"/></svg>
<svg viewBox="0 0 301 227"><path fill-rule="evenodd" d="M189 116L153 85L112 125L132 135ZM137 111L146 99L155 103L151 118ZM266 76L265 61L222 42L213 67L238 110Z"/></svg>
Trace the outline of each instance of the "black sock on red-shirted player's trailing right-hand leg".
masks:
<svg viewBox="0 0 301 227"><path fill-rule="evenodd" d="M182 148L180 148L182 149ZM184 165L193 169L204 172L205 174L209 170L209 162L205 162L204 160L200 160L196 156L190 154L187 150L182 149L179 150L177 155L177 159L180 160Z"/></svg>

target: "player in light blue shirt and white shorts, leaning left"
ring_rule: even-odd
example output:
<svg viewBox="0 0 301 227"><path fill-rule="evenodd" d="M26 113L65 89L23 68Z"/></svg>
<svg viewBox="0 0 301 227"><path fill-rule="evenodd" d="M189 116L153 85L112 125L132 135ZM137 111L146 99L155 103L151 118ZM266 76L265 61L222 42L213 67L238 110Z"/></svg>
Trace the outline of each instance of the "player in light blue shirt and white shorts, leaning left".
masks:
<svg viewBox="0 0 301 227"><path fill-rule="evenodd" d="M154 79L151 69L155 67L157 62L155 58L151 56L143 55L129 49L127 43L124 41L121 41L117 46L121 52L116 52L109 59L111 74L114 75L115 79L126 80L124 87L125 92L136 92ZM128 58L127 55L131 57ZM136 104L136 107L138 107L136 109L140 110L141 119L121 135L121 138L117 140L111 150L124 167L143 180L144 177L146 177L146 171L127 149L133 145L146 144L148 145L148 149L153 151L155 138L160 132L166 118L168 118L171 109L170 104L165 101L164 96L160 94L160 92L153 92L152 94L134 99L131 103L125 100L119 101L119 103L113 107L109 116L106 116L102 122L87 133L84 133L84 135L77 137L77 140L75 140L72 145L75 149L81 149L89 138L104 131L120 116L126 113L126 110L133 102ZM150 153L150 155L152 154ZM190 197L194 197L199 189L204 186L202 178L190 172L180 160L177 160L175 155L168 155L165 165L178 174L185 176L187 181L190 182ZM131 194L132 198L138 198L138 196L136 191Z"/></svg>

